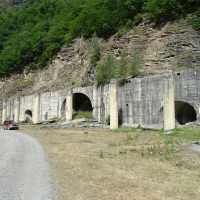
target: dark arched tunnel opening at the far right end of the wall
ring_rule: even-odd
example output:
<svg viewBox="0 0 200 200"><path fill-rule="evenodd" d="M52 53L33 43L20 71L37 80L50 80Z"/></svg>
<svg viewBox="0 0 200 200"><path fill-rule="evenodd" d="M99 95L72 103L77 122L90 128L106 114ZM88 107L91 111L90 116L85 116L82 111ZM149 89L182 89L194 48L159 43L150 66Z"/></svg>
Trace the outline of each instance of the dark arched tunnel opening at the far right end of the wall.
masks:
<svg viewBox="0 0 200 200"><path fill-rule="evenodd" d="M175 102L176 121L181 124L187 124L197 120L197 113L192 105L182 101Z"/></svg>

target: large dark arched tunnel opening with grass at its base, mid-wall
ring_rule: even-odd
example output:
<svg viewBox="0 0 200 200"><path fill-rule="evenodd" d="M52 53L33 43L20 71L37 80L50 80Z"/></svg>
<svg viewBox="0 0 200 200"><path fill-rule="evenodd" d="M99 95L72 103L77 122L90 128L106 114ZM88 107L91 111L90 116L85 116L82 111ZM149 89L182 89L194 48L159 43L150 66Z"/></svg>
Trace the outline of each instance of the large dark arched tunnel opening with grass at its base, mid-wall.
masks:
<svg viewBox="0 0 200 200"><path fill-rule="evenodd" d="M92 118L92 103L85 94L73 94L73 118Z"/></svg>

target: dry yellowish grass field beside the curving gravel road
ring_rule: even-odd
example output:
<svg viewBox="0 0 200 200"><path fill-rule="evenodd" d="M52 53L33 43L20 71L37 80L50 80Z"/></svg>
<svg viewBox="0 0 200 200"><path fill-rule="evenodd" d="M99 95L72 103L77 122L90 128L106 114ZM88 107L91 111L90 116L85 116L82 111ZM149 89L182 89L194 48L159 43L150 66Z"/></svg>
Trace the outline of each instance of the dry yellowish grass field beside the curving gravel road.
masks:
<svg viewBox="0 0 200 200"><path fill-rule="evenodd" d="M200 164L185 159L177 148L200 138L198 130L175 130L173 136L125 129L23 131L47 152L58 200L199 199Z"/></svg>

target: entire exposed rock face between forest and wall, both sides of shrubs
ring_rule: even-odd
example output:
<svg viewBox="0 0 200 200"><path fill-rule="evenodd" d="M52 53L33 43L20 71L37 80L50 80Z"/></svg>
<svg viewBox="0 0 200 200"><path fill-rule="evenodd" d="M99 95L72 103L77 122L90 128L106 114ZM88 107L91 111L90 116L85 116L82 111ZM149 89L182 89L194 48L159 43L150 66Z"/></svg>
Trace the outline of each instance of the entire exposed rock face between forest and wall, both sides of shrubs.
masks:
<svg viewBox="0 0 200 200"><path fill-rule="evenodd" d="M144 76L169 70L200 66L200 33L186 21L168 23L161 28L141 24L123 36L100 40L103 59L110 54L121 59L139 55ZM24 72L0 83L1 93L9 96L17 91L28 94L36 91L91 85L95 70L91 70L89 41L76 39L64 46L44 70Z"/></svg>

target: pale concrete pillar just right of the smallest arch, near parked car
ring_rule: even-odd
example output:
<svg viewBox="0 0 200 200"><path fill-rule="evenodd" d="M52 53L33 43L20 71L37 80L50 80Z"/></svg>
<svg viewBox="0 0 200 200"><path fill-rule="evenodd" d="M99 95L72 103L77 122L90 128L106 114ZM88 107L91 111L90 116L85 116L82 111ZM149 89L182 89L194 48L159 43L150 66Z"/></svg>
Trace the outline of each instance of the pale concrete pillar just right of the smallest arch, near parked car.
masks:
<svg viewBox="0 0 200 200"><path fill-rule="evenodd" d="M34 124L40 122L40 94L37 93L33 97L33 116L32 121Z"/></svg>

